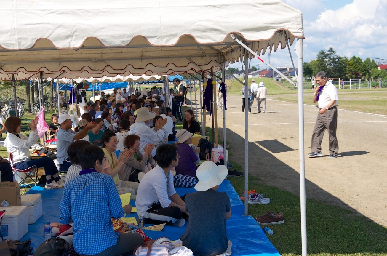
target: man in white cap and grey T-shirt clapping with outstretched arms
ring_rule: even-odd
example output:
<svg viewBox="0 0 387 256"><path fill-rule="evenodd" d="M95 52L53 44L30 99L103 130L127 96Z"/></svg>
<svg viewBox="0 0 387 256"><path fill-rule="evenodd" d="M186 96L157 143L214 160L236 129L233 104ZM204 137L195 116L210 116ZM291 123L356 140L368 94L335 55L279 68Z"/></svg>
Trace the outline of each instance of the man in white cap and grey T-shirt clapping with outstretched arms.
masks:
<svg viewBox="0 0 387 256"><path fill-rule="evenodd" d="M89 133L92 128L97 126L96 123L90 122L82 131L77 133L76 131L71 130L71 119L74 117L75 116L70 116L68 114L61 114L58 119L60 129L57 132L57 162L60 165L61 171L67 171L68 167L71 166L67 155L68 146L70 146L74 140L80 140L86 137L87 133Z"/></svg>

